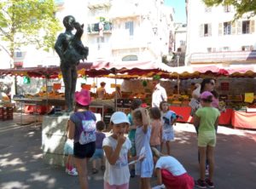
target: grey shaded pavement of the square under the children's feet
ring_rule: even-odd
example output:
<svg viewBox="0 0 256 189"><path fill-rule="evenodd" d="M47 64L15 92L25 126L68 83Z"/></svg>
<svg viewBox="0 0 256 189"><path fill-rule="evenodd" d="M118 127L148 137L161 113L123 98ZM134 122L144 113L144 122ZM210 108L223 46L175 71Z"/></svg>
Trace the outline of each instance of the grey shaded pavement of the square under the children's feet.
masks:
<svg viewBox="0 0 256 189"><path fill-rule="evenodd" d="M15 114L13 121L0 121L0 188L79 188L78 177L67 175L61 167L42 161L40 124L35 117ZM190 175L199 177L195 129L188 123L177 123L172 154ZM218 128L214 182L218 189L253 189L256 183L256 131ZM90 172L90 166L89 166ZM90 188L102 188L102 175L89 176ZM130 188L138 188L138 179ZM152 178L152 186L156 179Z"/></svg>

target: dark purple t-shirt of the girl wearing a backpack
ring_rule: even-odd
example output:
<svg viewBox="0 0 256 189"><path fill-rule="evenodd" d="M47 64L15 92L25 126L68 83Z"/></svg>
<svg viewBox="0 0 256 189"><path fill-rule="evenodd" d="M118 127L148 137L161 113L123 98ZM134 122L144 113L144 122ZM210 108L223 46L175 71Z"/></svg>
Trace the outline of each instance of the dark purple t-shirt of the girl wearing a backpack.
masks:
<svg viewBox="0 0 256 189"><path fill-rule="evenodd" d="M79 137L83 132L83 121L94 124L94 126L96 124L96 116L90 111L74 112L70 116L70 120L75 124L74 142L79 141Z"/></svg>

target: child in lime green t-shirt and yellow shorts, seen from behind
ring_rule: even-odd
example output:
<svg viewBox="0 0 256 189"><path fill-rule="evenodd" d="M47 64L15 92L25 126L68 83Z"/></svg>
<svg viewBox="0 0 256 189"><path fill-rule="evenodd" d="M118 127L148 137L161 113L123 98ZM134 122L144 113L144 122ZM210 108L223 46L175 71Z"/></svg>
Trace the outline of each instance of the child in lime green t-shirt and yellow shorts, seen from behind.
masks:
<svg viewBox="0 0 256 189"><path fill-rule="evenodd" d="M198 128L197 146L200 153L200 179L195 185L200 188L213 188L214 148L216 146L216 127L220 113L212 107L213 94L205 91L200 95L201 108L195 112L194 125ZM209 177L206 179L206 158L209 161Z"/></svg>

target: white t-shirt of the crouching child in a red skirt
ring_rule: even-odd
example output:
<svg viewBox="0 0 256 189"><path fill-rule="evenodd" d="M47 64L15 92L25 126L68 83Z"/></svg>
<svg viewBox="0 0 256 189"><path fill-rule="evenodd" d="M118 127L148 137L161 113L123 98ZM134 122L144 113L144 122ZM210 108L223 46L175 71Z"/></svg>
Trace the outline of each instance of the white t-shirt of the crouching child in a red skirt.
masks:
<svg viewBox="0 0 256 189"><path fill-rule="evenodd" d="M174 176L179 176L187 173L187 171L183 168L183 165L172 156L160 157L155 164L155 168L166 169Z"/></svg>

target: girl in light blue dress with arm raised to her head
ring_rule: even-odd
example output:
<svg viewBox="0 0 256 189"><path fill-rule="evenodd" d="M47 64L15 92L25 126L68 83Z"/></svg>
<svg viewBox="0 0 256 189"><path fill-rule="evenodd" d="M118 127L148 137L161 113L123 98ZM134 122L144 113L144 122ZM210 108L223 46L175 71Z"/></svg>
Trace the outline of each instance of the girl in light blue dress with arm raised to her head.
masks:
<svg viewBox="0 0 256 189"><path fill-rule="evenodd" d="M135 164L135 174L141 177L141 189L151 188L150 178L154 169L153 155L149 145L151 127L148 127L148 119L147 112L142 107L137 108L132 113L132 121L137 126L135 133L136 152L140 154L142 149L145 149L143 160Z"/></svg>

